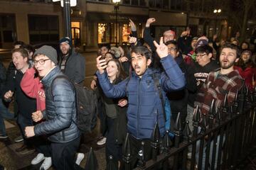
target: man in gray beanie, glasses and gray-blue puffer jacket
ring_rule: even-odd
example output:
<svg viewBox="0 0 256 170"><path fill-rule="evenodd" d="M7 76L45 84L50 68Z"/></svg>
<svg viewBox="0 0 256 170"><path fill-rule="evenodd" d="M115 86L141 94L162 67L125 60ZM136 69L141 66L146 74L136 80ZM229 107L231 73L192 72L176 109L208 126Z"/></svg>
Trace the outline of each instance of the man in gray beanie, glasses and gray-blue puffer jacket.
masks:
<svg viewBox="0 0 256 170"><path fill-rule="evenodd" d="M36 111L35 122L46 121L26 127L26 137L48 135L55 169L74 169L75 152L80 143L80 131L75 121L75 91L73 84L57 66L57 52L44 45L36 50L34 64L46 92L46 110ZM65 92L65 93L64 93Z"/></svg>

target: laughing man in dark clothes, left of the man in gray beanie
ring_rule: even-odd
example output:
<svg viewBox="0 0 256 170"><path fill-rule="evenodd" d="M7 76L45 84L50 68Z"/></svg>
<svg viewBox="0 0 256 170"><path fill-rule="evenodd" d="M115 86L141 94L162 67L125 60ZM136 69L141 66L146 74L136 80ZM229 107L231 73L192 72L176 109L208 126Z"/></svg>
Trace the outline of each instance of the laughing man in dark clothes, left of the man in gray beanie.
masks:
<svg viewBox="0 0 256 170"><path fill-rule="evenodd" d="M25 127L33 125L31 114L36 111L36 100L26 96L21 89L21 79L23 74L30 67L28 64L28 52L23 48L12 50L12 62L16 69L11 70L9 77L6 80L6 86L4 87L4 100L9 102L16 93L16 102L18 105L18 120L17 123L21 129L23 139L25 139ZM33 140L33 139L32 139ZM25 139L24 145L16 149L16 152L26 154L32 152L33 141Z"/></svg>

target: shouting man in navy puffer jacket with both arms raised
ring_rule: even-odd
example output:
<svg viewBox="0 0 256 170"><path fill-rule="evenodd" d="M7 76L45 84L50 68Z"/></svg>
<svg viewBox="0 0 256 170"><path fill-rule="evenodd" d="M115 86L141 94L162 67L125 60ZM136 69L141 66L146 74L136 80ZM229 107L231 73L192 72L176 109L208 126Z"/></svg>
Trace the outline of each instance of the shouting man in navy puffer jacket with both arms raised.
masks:
<svg viewBox="0 0 256 170"><path fill-rule="evenodd" d="M160 84L164 91L175 91L185 86L185 78L174 58L168 55L168 48L160 40L160 45L155 41L156 52L161 58L164 67L161 72ZM139 152L141 142L144 142L144 159L151 159L150 138L154 125L159 124L161 136L164 135L164 113L161 99L154 85L154 69L151 64L151 52L146 47L134 47L132 49L132 76L119 84L112 85L105 72L105 60L97 57L97 78L105 95L110 98L128 98L127 130L130 134L132 154Z"/></svg>

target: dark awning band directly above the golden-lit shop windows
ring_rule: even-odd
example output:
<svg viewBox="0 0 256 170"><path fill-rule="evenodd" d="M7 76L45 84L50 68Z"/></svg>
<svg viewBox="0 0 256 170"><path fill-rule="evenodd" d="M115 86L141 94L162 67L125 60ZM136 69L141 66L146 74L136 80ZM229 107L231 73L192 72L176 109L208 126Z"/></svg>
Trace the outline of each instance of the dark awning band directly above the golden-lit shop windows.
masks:
<svg viewBox="0 0 256 170"><path fill-rule="evenodd" d="M142 16L142 15L129 15L124 13L117 14L118 23L129 23L129 18L132 19L135 23L146 23L146 20L149 16ZM115 13L87 13L86 20L98 23L98 22L105 22L105 23L114 23L116 21Z"/></svg>

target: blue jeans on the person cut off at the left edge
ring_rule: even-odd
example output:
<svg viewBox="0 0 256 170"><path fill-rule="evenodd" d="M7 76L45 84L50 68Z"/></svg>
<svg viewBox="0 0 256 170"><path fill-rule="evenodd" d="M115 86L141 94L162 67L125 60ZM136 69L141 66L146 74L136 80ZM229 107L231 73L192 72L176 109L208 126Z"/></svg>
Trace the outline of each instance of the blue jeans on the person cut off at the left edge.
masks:
<svg viewBox="0 0 256 170"><path fill-rule="evenodd" d="M0 99L0 133L6 135L6 128L4 125L4 118L14 120L14 114L9 112L8 108L4 106L3 101Z"/></svg>

